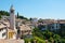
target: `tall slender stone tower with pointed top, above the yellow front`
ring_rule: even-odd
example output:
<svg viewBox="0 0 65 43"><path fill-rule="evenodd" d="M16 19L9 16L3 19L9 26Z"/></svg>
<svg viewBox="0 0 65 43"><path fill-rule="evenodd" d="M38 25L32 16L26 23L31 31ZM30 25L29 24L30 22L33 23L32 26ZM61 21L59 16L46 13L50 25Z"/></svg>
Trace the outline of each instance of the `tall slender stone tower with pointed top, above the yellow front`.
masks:
<svg viewBox="0 0 65 43"><path fill-rule="evenodd" d="M10 29L15 30L15 15L14 15L14 8L11 5L10 9Z"/></svg>

